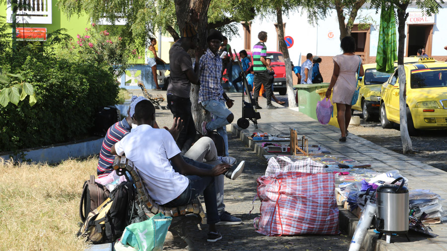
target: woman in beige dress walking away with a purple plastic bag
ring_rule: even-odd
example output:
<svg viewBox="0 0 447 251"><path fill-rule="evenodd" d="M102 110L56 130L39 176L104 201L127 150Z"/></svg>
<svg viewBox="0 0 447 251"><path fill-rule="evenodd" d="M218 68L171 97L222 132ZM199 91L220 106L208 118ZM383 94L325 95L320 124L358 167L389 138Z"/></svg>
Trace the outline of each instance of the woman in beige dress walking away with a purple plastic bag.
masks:
<svg viewBox="0 0 447 251"><path fill-rule="evenodd" d="M337 121L340 126L340 141L346 141L348 125L351 121L351 101L357 86L356 73L360 65L360 76L364 75L362 59L355 55L356 41L353 37L344 37L340 47L343 54L334 57L334 72L331 83L326 91L326 97L330 98L332 88L332 103L337 104Z"/></svg>

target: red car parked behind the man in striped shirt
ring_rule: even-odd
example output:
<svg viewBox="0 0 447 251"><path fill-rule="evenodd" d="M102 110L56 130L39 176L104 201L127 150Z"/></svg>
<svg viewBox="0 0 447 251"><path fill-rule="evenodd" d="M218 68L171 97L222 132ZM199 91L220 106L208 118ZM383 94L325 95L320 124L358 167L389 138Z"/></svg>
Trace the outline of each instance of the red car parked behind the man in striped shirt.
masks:
<svg viewBox="0 0 447 251"><path fill-rule="evenodd" d="M253 52L247 52L251 62ZM275 71L275 79L273 80L273 90L279 92L280 95L286 95L286 64L284 63L283 54L281 52L267 52L267 59L271 59L273 70Z"/></svg>

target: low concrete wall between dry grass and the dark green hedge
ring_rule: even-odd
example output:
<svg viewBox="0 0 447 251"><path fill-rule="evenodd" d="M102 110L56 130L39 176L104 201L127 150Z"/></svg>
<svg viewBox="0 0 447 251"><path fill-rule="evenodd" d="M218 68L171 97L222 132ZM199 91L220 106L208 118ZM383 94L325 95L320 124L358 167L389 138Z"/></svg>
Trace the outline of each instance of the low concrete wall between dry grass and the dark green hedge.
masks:
<svg viewBox="0 0 447 251"><path fill-rule="evenodd" d="M91 138L82 142L71 142L44 146L41 148L29 148L20 150L25 154L25 159L37 163L58 163L69 158L82 158L92 154L98 154L103 138ZM12 153L3 153L0 158L7 160ZM20 154L12 156L14 161L20 161Z"/></svg>

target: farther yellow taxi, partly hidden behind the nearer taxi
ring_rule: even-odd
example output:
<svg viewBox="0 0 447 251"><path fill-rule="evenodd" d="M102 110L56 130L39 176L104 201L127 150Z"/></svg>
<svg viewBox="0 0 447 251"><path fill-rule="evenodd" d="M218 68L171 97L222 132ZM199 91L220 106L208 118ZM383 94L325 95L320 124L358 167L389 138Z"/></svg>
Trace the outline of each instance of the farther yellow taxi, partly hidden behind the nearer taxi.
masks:
<svg viewBox="0 0 447 251"><path fill-rule="evenodd" d="M405 57L404 63L416 63L419 57ZM365 121L378 119L380 110L380 90L382 84L388 80L391 73L377 71L376 63L363 64L365 75L359 78L359 98L352 106L353 110L362 112ZM397 67L397 61L394 62Z"/></svg>

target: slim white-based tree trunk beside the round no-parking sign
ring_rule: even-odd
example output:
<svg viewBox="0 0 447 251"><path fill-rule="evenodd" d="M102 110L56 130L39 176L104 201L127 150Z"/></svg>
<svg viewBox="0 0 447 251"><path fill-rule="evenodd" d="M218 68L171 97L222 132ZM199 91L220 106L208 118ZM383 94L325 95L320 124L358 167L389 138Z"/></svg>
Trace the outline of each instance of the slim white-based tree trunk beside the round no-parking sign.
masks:
<svg viewBox="0 0 447 251"><path fill-rule="evenodd" d="M276 8L276 19L278 22L279 48L283 53L283 58L286 63L287 99L289 100L289 107L297 107L294 93L294 81L292 77L292 63L290 61L289 49L287 49L286 41L284 41L283 11L281 8L281 6Z"/></svg>

